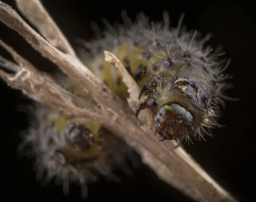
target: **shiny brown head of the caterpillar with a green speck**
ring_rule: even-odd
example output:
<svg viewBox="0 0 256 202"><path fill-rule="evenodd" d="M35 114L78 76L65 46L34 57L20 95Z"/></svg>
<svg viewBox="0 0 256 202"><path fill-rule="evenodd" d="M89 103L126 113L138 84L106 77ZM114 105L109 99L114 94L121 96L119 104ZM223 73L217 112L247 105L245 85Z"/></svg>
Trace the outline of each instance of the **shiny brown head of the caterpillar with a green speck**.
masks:
<svg viewBox="0 0 256 202"><path fill-rule="evenodd" d="M193 130L194 116L177 102L166 102L158 108L154 117L154 133L164 139L180 140Z"/></svg>

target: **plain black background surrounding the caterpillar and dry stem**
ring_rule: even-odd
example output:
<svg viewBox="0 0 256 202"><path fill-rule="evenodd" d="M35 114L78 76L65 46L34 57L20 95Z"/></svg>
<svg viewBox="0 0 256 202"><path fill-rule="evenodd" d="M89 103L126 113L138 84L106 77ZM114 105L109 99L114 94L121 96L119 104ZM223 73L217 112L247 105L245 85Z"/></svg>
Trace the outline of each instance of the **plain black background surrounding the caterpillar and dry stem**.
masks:
<svg viewBox="0 0 256 202"><path fill-rule="evenodd" d="M2 0L16 9L13 0ZM76 37L90 39L93 31L90 22L95 21L103 28L102 18L111 23L122 23L120 11L125 9L135 20L135 14L145 12L153 21L162 20L163 10L169 11L171 26L177 26L180 14L185 14L183 24L188 29L197 29L203 35L213 34L209 44L224 46L226 57L232 62L227 73L233 75L234 88L227 93L239 97L239 102L226 102L226 109L219 122L226 125L213 130L214 138L207 142L195 142L184 148L192 157L225 189L241 202L253 201L255 181L255 9L244 1L193 1L172 0L152 3L130 1L85 1L85 0L42 0L47 11L64 32L70 43L77 47ZM15 31L0 23L0 38L43 71L53 71L56 67L34 51ZM11 59L3 48L0 55ZM62 187L53 182L42 186L35 180L33 159L20 158L16 148L20 143L19 132L28 127L27 115L17 111L19 104L30 101L20 91L9 88L0 80L0 154L1 154L1 195L11 200L79 201L80 188L71 186L69 196L63 196ZM170 188L147 166L134 171L128 177L117 171L122 183L99 179L89 185L88 201L105 199L111 201L163 200L191 201L182 193Z"/></svg>

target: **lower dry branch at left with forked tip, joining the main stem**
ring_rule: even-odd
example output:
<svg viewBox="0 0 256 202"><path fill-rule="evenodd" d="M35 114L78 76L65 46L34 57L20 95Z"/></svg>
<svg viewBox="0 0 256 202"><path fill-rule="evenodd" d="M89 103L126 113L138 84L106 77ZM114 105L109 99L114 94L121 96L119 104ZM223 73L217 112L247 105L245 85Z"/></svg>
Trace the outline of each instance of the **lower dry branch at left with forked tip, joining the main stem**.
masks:
<svg viewBox="0 0 256 202"><path fill-rule="evenodd" d="M17 65L2 57L0 58L1 66L15 72L14 74L8 74L0 70L0 77L10 86L22 90L24 94L36 101L64 109L68 114L104 121L101 111L92 102L62 88L49 74L38 71L31 63L1 40L0 46L5 48L18 63Z"/></svg>

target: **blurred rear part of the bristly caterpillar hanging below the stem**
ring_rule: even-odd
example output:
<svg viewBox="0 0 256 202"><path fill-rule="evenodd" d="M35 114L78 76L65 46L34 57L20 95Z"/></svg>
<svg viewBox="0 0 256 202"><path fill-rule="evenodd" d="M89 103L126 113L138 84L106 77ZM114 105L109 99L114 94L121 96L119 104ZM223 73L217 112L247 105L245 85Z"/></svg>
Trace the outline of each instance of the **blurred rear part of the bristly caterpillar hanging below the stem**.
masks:
<svg viewBox="0 0 256 202"><path fill-rule="evenodd" d="M59 78L65 88L90 99L72 80L62 75ZM81 196L86 199L87 183L95 182L99 175L120 182L113 173L116 168L130 176L127 160L134 168L139 166L135 151L99 123L39 103L30 111L31 128L18 150L32 150L37 179L43 179L44 184L55 179L57 184L62 183L65 195L69 193L69 183L78 182Z"/></svg>

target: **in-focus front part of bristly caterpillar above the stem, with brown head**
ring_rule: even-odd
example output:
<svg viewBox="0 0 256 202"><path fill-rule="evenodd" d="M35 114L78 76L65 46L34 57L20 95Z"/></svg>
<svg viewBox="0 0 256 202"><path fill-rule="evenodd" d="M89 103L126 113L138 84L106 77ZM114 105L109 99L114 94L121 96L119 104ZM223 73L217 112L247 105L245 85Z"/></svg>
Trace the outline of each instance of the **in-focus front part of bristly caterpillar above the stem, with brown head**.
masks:
<svg viewBox="0 0 256 202"><path fill-rule="evenodd" d="M220 49L204 48L210 35L198 39L197 31L181 27L169 28L169 17L164 12L164 23L150 23L144 14L133 24L123 12L125 27L109 31L103 39L86 43L92 55L84 63L108 86L123 98L125 85L114 68L104 61L102 49L113 52L141 86L138 98L145 93L148 100L137 106L136 115L144 108L153 108L155 134L164 139L191 141L191 136L204 139L206 128L220 126L214 119L223 104L223 71L230 61L219 60ZM116 31L117 30L117 31ZM91 59L93 58L93 59ZM107 76L107 77L106 77ZM211 134L209 134L211 135Z"/></svg>

